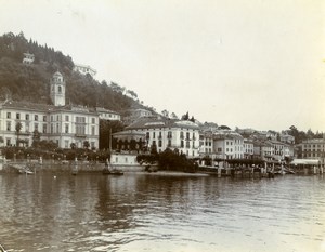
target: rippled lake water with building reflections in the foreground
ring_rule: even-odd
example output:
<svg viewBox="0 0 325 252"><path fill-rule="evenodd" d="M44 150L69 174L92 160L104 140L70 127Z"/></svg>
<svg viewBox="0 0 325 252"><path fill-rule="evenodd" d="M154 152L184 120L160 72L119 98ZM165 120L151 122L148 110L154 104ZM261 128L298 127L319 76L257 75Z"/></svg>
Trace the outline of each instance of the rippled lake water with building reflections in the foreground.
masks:
<svg viewBox="0 0 325 252"><path fill-rule="evenodd" d="M325 251L325 177L1 174L0 243L27 252Z"/></svg>

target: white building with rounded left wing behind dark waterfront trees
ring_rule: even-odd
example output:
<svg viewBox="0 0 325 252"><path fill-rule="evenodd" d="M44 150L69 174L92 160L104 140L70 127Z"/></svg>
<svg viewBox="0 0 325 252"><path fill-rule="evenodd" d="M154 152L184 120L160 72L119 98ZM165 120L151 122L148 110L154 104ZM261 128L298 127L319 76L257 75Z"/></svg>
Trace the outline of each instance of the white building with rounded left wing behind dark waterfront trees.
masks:
<svg viewBox="0 0 325 252"><path fill-rule="evenodd" d="M192 121L142 118L127 127L126 132L144 133L146 147L158 152L170 148L190 158L198 157L198 125Z"/></svg>

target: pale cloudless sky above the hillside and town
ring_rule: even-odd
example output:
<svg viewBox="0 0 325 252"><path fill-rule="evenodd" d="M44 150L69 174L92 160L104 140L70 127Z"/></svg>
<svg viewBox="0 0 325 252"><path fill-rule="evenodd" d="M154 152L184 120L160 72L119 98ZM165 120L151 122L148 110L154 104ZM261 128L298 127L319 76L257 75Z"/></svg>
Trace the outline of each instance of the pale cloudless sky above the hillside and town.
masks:
<svg viewBox="0 0 325 252"><path fill-rule="evenodd" d="M144 105L234 129L325 132L323 0L0 0L24 32Z"/></svg>

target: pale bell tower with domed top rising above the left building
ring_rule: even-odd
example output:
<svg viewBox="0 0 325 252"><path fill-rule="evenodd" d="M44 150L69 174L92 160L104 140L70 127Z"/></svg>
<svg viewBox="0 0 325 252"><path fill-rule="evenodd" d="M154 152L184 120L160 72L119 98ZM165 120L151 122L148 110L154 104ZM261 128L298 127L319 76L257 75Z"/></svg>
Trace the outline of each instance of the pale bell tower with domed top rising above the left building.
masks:
<svg viewBox="0 0 325 252"><path fill-rule="evenodd" d="M51 100L54 106L65 106L65 80L60 71L51 79Z"/></svg>

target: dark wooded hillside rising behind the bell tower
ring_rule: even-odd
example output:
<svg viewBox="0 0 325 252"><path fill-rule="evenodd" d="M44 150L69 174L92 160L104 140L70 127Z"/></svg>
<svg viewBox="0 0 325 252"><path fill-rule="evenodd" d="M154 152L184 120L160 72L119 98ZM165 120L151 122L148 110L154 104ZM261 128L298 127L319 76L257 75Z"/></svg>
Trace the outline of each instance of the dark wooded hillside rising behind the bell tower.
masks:
<svg viewBox="0 0 325 252"><path fill-rule="evenodd" d="M31 65L23 64L24 53L35 55ZM66 80L66 102L90 107L104 107L125 112L142 107L139 101L123 95L116 83L100 83L90 75L76 72L70 56L46 45L39 45L24 34L4 34L0 37L0 100L51 104L50 79L58 70ZM136 94L129 91L131 94Z"/></svg>

